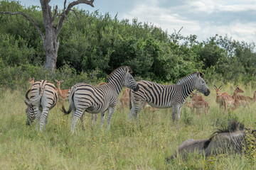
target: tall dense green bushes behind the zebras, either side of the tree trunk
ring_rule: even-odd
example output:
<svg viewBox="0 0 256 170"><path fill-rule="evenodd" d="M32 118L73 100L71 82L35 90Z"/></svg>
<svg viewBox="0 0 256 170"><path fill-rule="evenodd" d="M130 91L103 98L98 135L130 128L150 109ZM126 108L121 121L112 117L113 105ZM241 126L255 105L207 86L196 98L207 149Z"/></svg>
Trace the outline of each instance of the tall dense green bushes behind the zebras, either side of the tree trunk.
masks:
<svg viewBox="0 0 256 170"><path fill-rule="evenodd" d="M134 76L157 82L201 71L206 80L255 81L255 44L215 35L198 42L196 35L168 35L161 28L134 18L119 21L109 13L90 13L73 8L60 31L57 68L68 64L76 74L98 70L105 79L121 65L132 67ZM39 6L24 7L18 1L0 1L0 11L22 11L43 28ZM0 58L6 67L43 65L46 57L41 36L23 16L0 15ZM11 86L11 84L10 84Z"/></svg>

